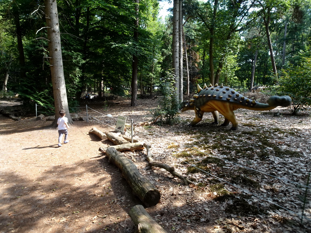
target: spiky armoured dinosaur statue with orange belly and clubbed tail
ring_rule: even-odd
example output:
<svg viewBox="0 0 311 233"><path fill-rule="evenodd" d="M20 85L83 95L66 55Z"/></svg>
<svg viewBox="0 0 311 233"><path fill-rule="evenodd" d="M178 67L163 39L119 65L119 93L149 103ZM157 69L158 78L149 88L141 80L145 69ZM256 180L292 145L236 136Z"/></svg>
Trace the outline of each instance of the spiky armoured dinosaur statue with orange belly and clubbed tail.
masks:
<svg viewBox="0 0 311 233"><path fill-rule="evenodd" d="M257 111L266 111L276 108L277 106L287 107L291 103L291 98L284 96L271 96L267 103L259 103L253 98L243 96L230 87L217 84L207 86L204 84L203 89L197 85L198 93L192 99L181 103L181 112L187 110L195 111L195 118L188 126L194 126L202 120L204 112L211 112L215 122L212 124L218 125L219 113L225 117L225 122L221 126L232 123L230 130L238 129L238 121L235 118L234 110L245 108ZM259 101L259 100L258 100Z"/></svg>

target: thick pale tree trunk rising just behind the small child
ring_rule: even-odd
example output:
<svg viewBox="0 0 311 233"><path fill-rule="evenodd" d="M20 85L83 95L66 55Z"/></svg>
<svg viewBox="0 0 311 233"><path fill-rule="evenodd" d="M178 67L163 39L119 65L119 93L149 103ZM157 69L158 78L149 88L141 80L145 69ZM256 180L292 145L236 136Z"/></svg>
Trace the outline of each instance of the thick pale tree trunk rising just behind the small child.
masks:
<svg viewBox="0 0 311 233"><path fill-rule="evenodd" d="M55 101L55 119L52 126L57 126L59 111L61 109L64 109L67 113L66 117L68 118L68 124L71 125L72 119L69 114L67 102L57 4L55 0L44 0L44 6L46 14L46 25L48 27L49 57L51 57L49 62Z"/></svg>

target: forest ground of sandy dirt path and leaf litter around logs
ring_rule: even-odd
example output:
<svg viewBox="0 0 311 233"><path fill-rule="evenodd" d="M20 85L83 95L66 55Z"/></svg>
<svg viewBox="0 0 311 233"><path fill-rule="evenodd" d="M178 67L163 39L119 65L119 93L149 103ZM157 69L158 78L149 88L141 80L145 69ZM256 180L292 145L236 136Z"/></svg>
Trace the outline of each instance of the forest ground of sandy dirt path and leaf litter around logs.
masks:
<svg viewBox="0 0 311 233"><path fill-rule="evenodd" d="M70 142L62 147L51 121L1 115L0 233L134 232L128 212L142 202L99 152L112 143L89 131L114 131L118 115L151 121L158 100L138 99L137 107L124 98L87 103L90 117L101 122L75 121ZM85 114L85 108L76 113ZM135 138L152 145L156 162L174 166L194 182L184 185L164 169L148 167L146 150L123 152L160 191L160 203L146 211L167 232L311 232L311 194L305 186L311 169L310 112L293 117L278 107L235 114L236 131L211 125L209 113L189 128L193 111L171 126L135 127ZM301 215L307 217L302 224Z"/></svg>

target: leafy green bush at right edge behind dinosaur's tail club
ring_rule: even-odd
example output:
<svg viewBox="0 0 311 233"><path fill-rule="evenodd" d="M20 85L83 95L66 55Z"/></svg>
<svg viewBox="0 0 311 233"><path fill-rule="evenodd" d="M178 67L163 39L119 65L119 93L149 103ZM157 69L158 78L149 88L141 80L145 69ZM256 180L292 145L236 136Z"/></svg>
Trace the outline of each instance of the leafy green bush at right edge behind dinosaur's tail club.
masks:
<svg viewBox="0 0 311 233"><path fill-rule="evenodd" d="M300 66L291 66L283 70L278 85L274 87L278 95L292 98L293 115L311 106L311 58L304 58Z"/></svg>

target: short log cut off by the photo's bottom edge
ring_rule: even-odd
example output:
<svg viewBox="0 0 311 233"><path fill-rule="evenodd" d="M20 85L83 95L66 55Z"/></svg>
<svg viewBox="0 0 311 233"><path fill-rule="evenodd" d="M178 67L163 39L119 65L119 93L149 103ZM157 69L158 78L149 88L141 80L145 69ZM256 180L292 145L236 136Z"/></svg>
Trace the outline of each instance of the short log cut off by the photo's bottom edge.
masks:
<svg viewBox="0 0 311 233"><path fill-rule="evenodd" d="M167 233L160 224L152 219L142 205L132 207L128 215L136 225L135 233Z"/></svg>

